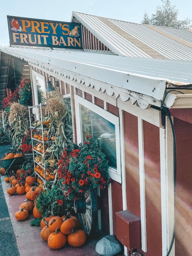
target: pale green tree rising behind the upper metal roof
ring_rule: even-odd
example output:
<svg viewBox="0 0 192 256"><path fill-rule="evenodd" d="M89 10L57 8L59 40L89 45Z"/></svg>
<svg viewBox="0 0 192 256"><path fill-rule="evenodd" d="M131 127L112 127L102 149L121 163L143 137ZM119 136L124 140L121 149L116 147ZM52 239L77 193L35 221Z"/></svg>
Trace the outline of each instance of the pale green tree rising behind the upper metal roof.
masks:
<svg viewBox="0 0 192 256"><path fill-rule="evenodd" d="M188 29L192 27L191 20L189 18L178 20L177 16L179 11L176 9L175 5L171 5L170 0L161 1L162 6L157 6L156 13L151 15L151 19L148 17L145 11L144 19L141 22L142 24Z"/></svg>

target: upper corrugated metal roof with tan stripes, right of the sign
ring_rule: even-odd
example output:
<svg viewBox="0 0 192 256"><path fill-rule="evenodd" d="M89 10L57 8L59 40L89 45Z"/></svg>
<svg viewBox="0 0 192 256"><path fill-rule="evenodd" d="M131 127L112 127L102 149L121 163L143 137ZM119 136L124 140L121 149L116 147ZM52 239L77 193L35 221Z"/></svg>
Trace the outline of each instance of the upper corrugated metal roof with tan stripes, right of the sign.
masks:
<svg viewBox="0 0 192 256"><path fill-rule="evenodd" d="M73 12L72 17L117 55L192 60L192 32L188 29L136 24L78 12Z"/></svg>

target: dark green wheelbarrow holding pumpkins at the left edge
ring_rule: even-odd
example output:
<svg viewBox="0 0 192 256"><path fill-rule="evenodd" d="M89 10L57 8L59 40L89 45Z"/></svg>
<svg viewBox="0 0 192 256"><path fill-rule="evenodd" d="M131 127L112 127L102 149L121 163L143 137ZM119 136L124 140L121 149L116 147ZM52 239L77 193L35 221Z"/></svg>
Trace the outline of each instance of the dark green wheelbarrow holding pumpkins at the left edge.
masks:
<svg viewBox="0 0 192 256"><path fill-rule="evenodd" d="M11 175L11 170L16 170L20 165L24 164L26 162L26 158L24 156L19 156L15 158L9 158L9 159L1 159L0 160L0 166L6 169L5 174Z"/></svg>

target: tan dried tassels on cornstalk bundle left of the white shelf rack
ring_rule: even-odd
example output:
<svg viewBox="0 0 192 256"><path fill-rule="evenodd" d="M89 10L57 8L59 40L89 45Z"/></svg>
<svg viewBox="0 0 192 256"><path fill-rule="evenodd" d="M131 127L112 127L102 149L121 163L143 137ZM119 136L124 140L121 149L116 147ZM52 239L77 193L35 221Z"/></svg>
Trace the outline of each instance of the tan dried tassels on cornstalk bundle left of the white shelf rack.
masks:
<svg viewBox="0 0 192 256"><path fill-rule="evenodd" d="M8 121L10 123L13 122L14 119L17 119L19 117L28 118L29 111L28 108L24 105L21 105L17 102L10 103L10 114Z"/></svg>

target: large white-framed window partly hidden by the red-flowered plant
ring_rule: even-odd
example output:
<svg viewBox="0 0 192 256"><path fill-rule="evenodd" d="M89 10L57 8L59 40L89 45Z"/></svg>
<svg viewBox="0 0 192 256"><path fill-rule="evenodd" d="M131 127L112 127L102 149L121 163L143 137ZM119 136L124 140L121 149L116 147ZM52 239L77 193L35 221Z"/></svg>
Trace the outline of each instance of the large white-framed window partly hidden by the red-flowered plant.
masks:
<svg viewBox="0 0 192 256"><path fill-rule="evenodd" d="M101 140L102 150L108 159L109 176L121 183L121 157L119 119L99 106L75 96L78 143L87 136Z"/></svg>

